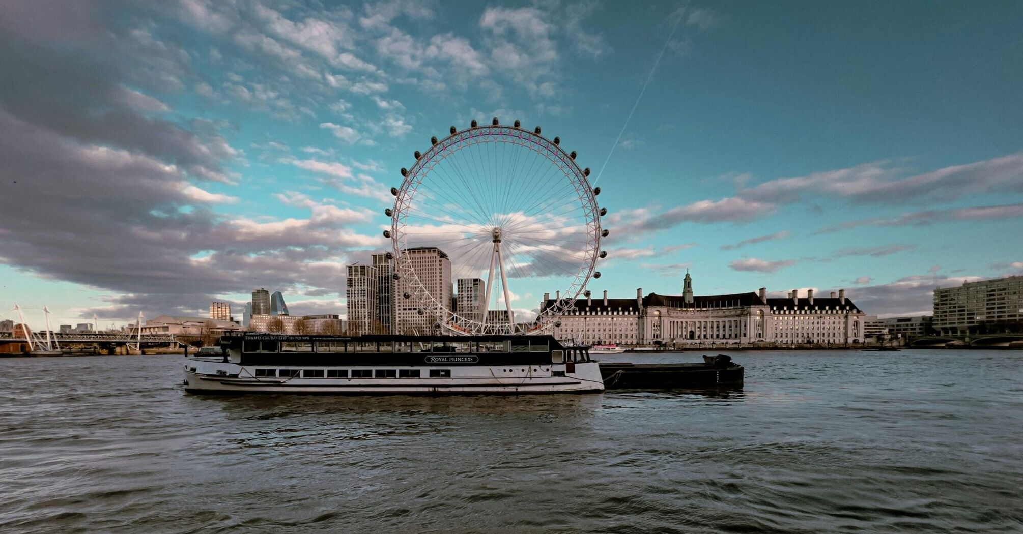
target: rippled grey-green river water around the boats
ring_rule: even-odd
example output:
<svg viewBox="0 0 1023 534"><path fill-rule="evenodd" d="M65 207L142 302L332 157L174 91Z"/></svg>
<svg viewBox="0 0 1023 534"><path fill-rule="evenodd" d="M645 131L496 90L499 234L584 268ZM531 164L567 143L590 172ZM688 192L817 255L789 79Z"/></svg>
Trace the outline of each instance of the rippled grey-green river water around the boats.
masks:
<svg viewBox="0 0 1023 534"><path fill-rule="evenodd" d="M1023 352L732 354L721 396L202 397L181 356L0 360L0 531L1023 532Z"/></svg>

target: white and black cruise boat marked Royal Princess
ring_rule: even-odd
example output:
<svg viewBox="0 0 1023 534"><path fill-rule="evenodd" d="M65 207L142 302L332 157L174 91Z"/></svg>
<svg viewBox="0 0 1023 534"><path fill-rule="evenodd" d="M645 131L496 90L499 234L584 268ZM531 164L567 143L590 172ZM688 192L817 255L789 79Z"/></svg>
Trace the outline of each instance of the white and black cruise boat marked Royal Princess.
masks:
<svg viewBox="0 0 1023 534"><path fill-rule="evenodd" d="M185 362L190 393L466 394L604 391L586 347L550 336L278 336L221 339Z"/></svg>

